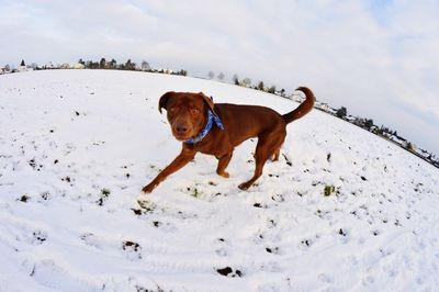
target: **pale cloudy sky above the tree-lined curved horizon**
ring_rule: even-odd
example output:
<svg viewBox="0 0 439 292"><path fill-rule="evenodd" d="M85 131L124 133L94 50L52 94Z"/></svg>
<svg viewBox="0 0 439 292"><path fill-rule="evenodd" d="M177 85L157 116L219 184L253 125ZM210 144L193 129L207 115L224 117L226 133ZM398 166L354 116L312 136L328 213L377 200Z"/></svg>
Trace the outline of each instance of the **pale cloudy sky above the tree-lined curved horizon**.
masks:
<svg viewBox="0 0 439 292"><path fill-rule="evenodd" d="M438 0L0 0L0 66L131 58L307 86L439 156L438 15Z"/></svg>

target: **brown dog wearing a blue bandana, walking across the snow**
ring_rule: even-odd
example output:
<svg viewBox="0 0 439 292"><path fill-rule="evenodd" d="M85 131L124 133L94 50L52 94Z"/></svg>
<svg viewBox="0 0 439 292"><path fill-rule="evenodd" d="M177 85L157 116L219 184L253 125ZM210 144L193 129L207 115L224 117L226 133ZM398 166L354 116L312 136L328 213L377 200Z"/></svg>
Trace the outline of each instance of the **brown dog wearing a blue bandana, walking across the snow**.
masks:
<svg viewBox="0 0 439 292"><path fill-rule="evenodd" d="M315 97L306 87L300 87L306 100L297 109L284 115L259 105L228 103L214 104L212 99L200 93L167 92L159 101L158 109L166 109L172 135L182 142L179 156L167 166L143 191L150 193L169 175L191 161L198 151L214 155L218 159L216 173L228 178L225 171L234 148L250 137L258 137L254 177L239 189L247 190L261 175L267 159L279 159L280 148L285 139L286 124L308 113Z"/></svg>

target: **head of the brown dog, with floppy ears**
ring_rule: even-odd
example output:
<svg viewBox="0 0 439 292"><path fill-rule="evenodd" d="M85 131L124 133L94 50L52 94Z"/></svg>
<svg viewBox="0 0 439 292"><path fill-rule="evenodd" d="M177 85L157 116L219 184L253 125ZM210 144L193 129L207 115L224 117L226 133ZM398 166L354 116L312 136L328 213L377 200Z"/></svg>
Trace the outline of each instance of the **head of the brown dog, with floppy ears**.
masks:
<svg viewBox="0 0 439 292"><path fill-rule="evenodd" d="M158 103L158 110L167 111L172 135L178 141L188 141L204 128L207 119L207 110L214 115L214 103L203 92L167 92Z"/></svg>

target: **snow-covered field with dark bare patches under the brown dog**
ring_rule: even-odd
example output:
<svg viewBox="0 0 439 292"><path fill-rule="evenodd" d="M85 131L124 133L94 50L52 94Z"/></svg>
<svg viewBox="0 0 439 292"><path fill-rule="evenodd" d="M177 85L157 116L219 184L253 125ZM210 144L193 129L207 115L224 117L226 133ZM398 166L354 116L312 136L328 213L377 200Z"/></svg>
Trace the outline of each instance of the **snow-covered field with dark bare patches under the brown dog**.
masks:
<svg viewBox="0 0 439 292"><path fill-rule="evenodd" d="M297 105L165 75L0 76L0 291L439 291L439 170L319 111L248 191L255 139L229 179L199 154L143 195L181 147L169 90Z"/></svg>

